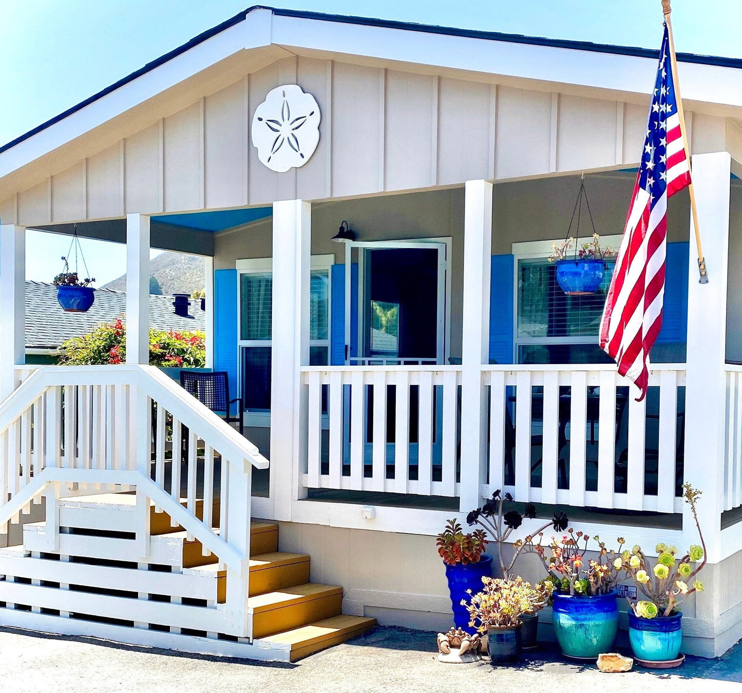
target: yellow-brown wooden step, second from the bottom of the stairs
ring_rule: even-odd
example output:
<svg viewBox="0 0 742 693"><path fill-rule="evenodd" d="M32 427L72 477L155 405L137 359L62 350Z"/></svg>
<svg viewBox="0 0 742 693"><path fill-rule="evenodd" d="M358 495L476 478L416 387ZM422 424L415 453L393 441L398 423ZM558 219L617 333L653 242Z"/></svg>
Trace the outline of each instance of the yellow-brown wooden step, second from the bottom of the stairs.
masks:
<svg viewBox="0 0 742 693"><path fill-rule="evenodd" d="M339 616L342 603L343 588L312 583L249 597L253 637L266 637Z"/></svg>

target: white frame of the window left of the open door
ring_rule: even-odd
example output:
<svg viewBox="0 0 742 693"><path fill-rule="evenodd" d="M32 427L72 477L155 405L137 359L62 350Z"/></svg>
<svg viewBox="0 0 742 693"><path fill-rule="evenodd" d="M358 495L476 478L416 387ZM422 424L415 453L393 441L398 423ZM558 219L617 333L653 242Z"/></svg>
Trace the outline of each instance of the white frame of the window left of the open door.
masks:
<svg viewBox="0 0 742 693"><path fill-rule="evenodd" d="M309 346L321 346L327 349L329 361L330 336L332 335L332 265L335 265L335 254L312 255L310 262L311 270L327 271L327 339L311 339ZM235 263L237 269L237 382L240 393L243 383L243 347L271 347L273 339L242 339L242 275L243 274L265 274L273 272L273 259L270 257L239 259ZM309 310L309 306L306 306ZM272 337L272 335L271 335ZM271 425L271 414L269 411L245 410L244 421L246 426L254 428L268 428Z"/></svg>

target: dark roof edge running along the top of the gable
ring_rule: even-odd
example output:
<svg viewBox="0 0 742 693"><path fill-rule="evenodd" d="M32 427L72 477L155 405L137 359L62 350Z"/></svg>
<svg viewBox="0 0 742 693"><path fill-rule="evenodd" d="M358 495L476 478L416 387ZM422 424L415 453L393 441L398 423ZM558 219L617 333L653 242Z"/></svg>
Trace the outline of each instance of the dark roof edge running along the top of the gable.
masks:
<svg viewBox="0 0 742 693"><path fill-rule="evenodd" d="M358 26L381 27L381 28L387 28L387 29L398 29L398 30L414 31L414 32L421 32L421 33L440 34L440 35L446 35L446 36L459 36L459 37L470 38L470 39L483 39L486 41L507 42L507 43L515 43L515 44L528 44L528 45L533 45L533 46L544 46L544 47L567 48L571 50L583 50L583 51L588 51L592 53L609 53L609 54L621 55L621 56L634 56L634 57L652 58L652 59L657 59L658 54L659 54L658 50L653 50L649 48L620 46L620 45L614 45L614 44L600 44L600 43L594 43L594 42L588 42L588 41L573 41L569 39L548 39L548 38L539 37L539 36L524 36L522 34L501 33L501 32L496 32L496 31L459 29L456 27L441 27L441 26L437 26L433 24L418 24L415 22L394 21L390 19L373 19L370 17L326 14L326 13L309 12L309 11L303 11L303 10L287 10L287 9L282 9L279 7L269 7L266 5L253 5L252 7L249 7L248 9L243 10L240 13L237 13L233 17L230 17L226 21L223 21L220 24L217 24L217 26L204 31L203 33L200 33L198 36L194 36L193 39L191 39L188 42L185 42L184 44L178 46L177 48L174 48L174 50L171 50L168 53L165 53L164 55L160 56L159 58L151 62L148 62L144 66L140 67L139 70L135 70L133 73L128 74L125 77L122 77L122 79L119 79L113 84L110 84L108 87L105 87L105 89L102 89L99 92L93 94L92 96L89 96L88 99L85 99L84 101L79 102L78 104L68 108L67 110L62 111L62 113L59 113L59 115L54 116L53 118L47 120L46 122L43 122L41 125L37 125L32 130L28 130L28 132L23 133L22 135L16 137L16 139L13 139L4 145L1 145L0 154L3 153L4 151L11 149L12 147L15 147L21 142L24 142L24 140L30 139L34 135L42 132L42 130L46 130L47 127L51 127L55 123L64 120L68 116L71 116L73 113L76 113L77 111L82 110L86 106L91 105L93 102L96 102L99 99L102 99L104 96L107 96L108 94L114 92L116 89L119 89L119 87L123 87L125 84L134 82L135 79L145 75L148 72L151 72L157 67L160 67L161 65L171 61L172 59L177 58L177 56L182 55L183 53L190 50L191 48L196 47L197 45L208 41L214 36L217 36L217 34L222 33L223 31L229 29L230 27L233 27L235 24L239 24L240 21L244 21L247 18L247 16L250 13L254 12L255 10L268 10L270 13L272 13L275 16L291 17L295 19L315 19L318 21L330 21L330 22L338 22L342 24L355 24ZM695 64L703 64L703 65L714 65L717 67L733 67L736 69L742 69L742 59L726 58L723 56L700 56L694 53L677 53L677 59L680 62L688 62L688 63L695 63Z"/></svg>

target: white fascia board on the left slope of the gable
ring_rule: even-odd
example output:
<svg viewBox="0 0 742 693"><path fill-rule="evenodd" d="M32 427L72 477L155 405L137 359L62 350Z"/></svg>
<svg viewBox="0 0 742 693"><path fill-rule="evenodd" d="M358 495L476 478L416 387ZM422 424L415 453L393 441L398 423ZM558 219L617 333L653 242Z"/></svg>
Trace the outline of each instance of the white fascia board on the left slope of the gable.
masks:
<svg viewBox="0 0 742 693"><path fill-rule="evenodd" d="M0 179L240 50L269 45L271 19L270 10L255 10L245 20L19 142L0 154Z"/></svg>

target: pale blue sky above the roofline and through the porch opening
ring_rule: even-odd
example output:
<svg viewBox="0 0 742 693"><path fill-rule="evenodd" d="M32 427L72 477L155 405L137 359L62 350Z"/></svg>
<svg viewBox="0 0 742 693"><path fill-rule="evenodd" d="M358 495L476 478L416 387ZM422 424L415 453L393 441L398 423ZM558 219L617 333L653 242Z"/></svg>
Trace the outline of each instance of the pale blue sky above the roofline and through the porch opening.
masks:
<svg viewBox="0 0 742 693"><path fill-rule="evenodd" d="M249 0L0 0L0 143L82 101ZM660 0L295 0L275 7L557 39L658 47ZM742 58L740 0L673 0L677 50ZM27 276L59 271L67 239L29 233ZM33 236L33 237L32 237ZM122 247L86 241L98 285L123 273Z"/></svg>

